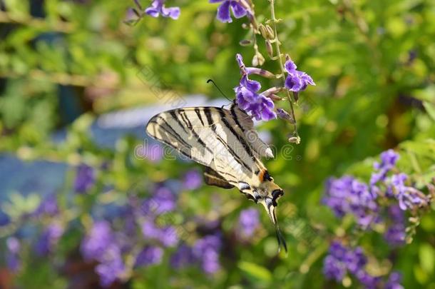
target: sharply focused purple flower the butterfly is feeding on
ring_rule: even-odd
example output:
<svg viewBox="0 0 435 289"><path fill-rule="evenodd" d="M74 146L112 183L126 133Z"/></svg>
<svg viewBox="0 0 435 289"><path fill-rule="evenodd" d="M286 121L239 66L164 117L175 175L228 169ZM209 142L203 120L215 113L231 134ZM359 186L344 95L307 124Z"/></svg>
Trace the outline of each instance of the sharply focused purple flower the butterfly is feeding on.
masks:
<svg viewBox="0 0 435 289"><path fill-rule="evenodd" d="M275 104L270 98L267 98L260 91L261 85L258 81L252 81L248 78L249 72L243 64L243 59L240 54L237 54L236 60L242 72L239 86L235 87L236 102L242 110L250 112L252 116L260 121L270 121L277 118L277 114L273 111Z"/></svg>

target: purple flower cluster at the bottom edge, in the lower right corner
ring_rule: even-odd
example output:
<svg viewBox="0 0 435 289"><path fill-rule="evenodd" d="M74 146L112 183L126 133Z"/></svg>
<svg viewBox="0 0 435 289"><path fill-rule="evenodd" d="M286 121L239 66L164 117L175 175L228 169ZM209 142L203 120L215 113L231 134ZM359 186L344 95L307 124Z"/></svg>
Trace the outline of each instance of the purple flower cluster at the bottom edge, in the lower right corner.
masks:
<svg viewBox="0 0 435 289"><path fill-rule="evenodd" d="M380 276L367 273L365 267L367 257L362 248L348 248L339 241L334 241L329 247L329 254L324 258L323 273L327 279L342 282L343 278L351 274L359 280L365 288L381 288L383 281ZM400 274L391 273L386 287L401 288ZM400 287L394 287L400 286Z"/></svg>

